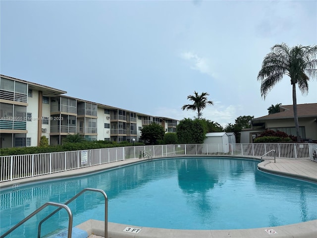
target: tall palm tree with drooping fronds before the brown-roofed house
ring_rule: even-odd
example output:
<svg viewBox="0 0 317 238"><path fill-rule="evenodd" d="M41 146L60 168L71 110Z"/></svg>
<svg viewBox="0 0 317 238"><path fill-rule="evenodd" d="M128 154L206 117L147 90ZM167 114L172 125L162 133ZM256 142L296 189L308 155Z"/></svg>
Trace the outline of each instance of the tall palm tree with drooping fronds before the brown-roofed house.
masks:
<svg viewBox="0 0 317 238"><path fill-rule="evenodd" d="M262 62L262 68L258 74L261 81L261 96L267 95L273 86L282 80L284 75L291 79L293 89L293 111L296 127L297 141L300 142L299 125L297 116L296 87L302 94L308 93L308 81L317 77L317 45L294 46L290 48L285 43L271 48Z"/></svg>

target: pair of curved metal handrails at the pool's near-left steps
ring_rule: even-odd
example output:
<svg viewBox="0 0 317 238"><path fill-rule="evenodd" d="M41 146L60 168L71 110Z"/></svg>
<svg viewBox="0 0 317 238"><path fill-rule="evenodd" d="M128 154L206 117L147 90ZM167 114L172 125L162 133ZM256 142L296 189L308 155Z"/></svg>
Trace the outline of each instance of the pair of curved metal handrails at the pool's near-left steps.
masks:
<svg viewBox="0 0 317 238"><path fill-rule="evenodd" d="M65 208L67 213L68 213L68 217L69 217L69 221L68 221L68 232L67 232L67 238L71 238L71 233L72 233L72 224L73 224L73 215L71 213L71 210L69 209L69 207L67 206L67 204L69 204L70 202L72 202L73 200L75 200L78 196L80 196L82 193L84 193L85 191L96 191L96 192L101 192L104 197L105 197L105 238L108 235L108 198L106 195L106 192L102 189L97 189L97 188L85 188L82 191L80 191L79 193L77 193L75 196L73 196L71 199L69 199L67 202L65 202L64 204L61 203L56 203L56 202L47 202L45 203L43 206L41 206L40 208L38 208L37 210L35 210L33 213L31 213L29 216L27 216L26 218L24 218L21 222L19 222L18 224L16 224L14 227L12 227L10 230L8 230L6 233L4 233L3 235L0 236L0 238L4 238L5 236L7 236L8 234L10 234L11 232L13 232L16 228L18 228L19 226L21 226L23 223L25 223L27 220L29 220L30 218L32 218L35 214L39 213L41 210L43 210L45 207L52 205L52 206L57 206L59 208L57 208L55 211L53 211L51 214L49 214L47 217L45 217L44 219L41 220L41 222L39 223L39 227L38 227L38 238L41 238L41 226L43 224L43 222L45 222L46 220L48 220L50 217L52 217L55 213L57 213L59 210L61 210L62 208Z"/></svg>

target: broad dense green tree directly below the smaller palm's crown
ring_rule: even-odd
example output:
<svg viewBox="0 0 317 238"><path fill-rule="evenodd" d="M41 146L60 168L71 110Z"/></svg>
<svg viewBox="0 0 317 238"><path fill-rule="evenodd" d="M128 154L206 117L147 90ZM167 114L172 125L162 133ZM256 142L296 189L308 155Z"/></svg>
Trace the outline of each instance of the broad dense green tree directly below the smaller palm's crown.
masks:
<svg viewBox="0 0 317 238"><path fill-rule="evenodd" d="M185 118L176 126L177 141L180 144L202 144L206 129L199 119Z"/></svg>

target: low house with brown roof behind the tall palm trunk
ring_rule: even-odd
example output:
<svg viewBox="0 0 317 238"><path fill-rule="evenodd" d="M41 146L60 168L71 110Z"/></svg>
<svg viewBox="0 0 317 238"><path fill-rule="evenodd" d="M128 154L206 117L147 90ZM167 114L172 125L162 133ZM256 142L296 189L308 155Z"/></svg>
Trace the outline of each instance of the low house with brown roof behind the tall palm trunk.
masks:
<svg viewBox="0 0 317 238"><path fill-rule="evenodd" d="M317 141L317 103L297 105L301 139ZM280 112L251 121L251 128L241 131L241 143L252 143L265 130L283 131L296 136L293 105L280 106Z"/></svg>

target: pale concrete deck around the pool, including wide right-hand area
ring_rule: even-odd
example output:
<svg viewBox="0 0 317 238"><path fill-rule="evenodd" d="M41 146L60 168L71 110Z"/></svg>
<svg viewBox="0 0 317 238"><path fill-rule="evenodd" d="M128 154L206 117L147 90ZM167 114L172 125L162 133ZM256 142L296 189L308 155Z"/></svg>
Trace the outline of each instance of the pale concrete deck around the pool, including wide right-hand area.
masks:
<svg viewBox="0 0 317 238"><path fill-rule="evenodd" d="M104 165L85 167L79 170L55 173L27 179L17 179L0 183L1 189L11 188L13 184L39 182L47 179L60 179L63 177L86 175L97 173L106 169L119 168L128 164L138 163L139 159L118 161ZM302 159L264 160L259 163L261 171L276 175L288 176L296 179L304 179L317 182L317 162ZM274 201L272 201L274 202ZM317 208L317 204L316 204ZM138 233L125 232L127 227L141 229ZM89 238L104 237L104 222L88 220L77 226L87 231ZM108 238L315 238L317 237L317 220L293 225L267 227L246 230L171 230L149 227L137 227L108 222Z"/></svg>

